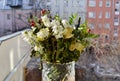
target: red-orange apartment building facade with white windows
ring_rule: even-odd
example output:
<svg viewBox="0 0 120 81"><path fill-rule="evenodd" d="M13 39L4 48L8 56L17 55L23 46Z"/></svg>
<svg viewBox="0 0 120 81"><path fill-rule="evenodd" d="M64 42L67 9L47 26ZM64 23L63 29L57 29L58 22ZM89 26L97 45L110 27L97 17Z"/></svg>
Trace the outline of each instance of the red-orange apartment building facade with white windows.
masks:
<svg viewBox="0 0 120 81"><path fill-rule="evenodd" d="M87 21L92 32L99 34L98 41L120 40L120 0L87 0Z"/></svg>

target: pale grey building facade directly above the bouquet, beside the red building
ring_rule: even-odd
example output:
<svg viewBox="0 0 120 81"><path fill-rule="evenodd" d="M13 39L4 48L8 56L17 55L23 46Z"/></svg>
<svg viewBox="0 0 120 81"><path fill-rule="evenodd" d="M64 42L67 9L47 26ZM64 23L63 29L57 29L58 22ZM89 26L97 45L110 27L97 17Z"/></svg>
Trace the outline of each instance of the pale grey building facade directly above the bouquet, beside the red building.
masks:
<svg viewBox="0 0 120 81"><path fill-rule="evenodd" d="M81 22L86 19L87 0L47 0L46 8L52 15L58 14L61 18L68 19L72 14L81 17Z"/></svg>

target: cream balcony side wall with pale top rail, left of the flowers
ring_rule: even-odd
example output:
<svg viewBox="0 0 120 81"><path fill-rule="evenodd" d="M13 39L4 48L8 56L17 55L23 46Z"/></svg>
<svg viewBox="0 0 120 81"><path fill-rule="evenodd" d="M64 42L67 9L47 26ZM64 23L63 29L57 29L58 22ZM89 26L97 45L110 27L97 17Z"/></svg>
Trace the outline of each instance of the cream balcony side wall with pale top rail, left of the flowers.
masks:
<svg viewBox="0 0 120 81"><path fill-rule="evenodd" d="M21 32L0 38L0 81L24 81L23 68L29 61L30 46Z"/></svg>

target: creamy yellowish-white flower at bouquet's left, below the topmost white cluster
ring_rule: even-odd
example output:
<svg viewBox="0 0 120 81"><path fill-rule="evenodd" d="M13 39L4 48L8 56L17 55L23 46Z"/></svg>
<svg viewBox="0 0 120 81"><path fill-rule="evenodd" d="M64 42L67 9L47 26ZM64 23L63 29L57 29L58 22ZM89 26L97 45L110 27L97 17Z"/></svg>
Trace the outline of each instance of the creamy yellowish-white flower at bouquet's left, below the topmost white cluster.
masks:
<svg viewBox="0 0 120 81"><path fill-rule="evenodd" d="M49 36L49 29L48 28L43 28L37 33L37 37L41 38L44 40L44 38Z"/></svg>

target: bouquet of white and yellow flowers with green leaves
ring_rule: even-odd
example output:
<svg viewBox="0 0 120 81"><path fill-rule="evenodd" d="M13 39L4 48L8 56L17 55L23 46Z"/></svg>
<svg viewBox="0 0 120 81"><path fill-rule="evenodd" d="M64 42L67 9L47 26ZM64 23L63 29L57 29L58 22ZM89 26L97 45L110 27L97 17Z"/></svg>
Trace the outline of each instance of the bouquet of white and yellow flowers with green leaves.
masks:
<svg viewBox="0 0 120 81"><path fill-rule="evenodd" d="M76 15L69 20L59 16L51 17L48 11L41 11L41 18L30 19L31 30L24 31L24 39L31 44L31 56L40 57L50 63L77 61L80 54L97 35L90 32L87 22L76 25Z"/></svg>

